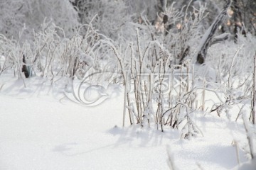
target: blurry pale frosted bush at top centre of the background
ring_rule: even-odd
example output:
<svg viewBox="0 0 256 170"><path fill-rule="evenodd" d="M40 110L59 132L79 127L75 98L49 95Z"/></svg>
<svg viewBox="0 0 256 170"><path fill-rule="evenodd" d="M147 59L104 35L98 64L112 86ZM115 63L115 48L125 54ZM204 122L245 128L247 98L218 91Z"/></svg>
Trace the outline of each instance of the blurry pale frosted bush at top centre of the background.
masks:
<svg viewBox="0 0 256 170"><path fill-rule="evenodd" d="M88 24L92 21L95 29L108 38L129 38L129 22L132 22L132 14L129 13L124 1L88 1L77 0L80 23Z"/></svg>

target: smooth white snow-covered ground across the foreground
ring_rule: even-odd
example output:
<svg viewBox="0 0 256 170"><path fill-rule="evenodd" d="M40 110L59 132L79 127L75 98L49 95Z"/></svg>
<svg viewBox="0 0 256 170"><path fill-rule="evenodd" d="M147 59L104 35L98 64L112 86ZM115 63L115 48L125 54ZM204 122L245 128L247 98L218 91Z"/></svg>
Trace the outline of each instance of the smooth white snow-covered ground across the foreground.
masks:
<svg viewBox="0 0 256 170"><path fill-rule="evenodd" d="M235 169L247 162L233 145L242 123L225 115L197 113L203 132L191 140L178 130L122 128L122 92L95 107L63 98L65 86L41 77L0 77L0 169ZM247 166L254 169L255 164ZM256 168L255 168L256 169Z"/></svg>

